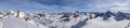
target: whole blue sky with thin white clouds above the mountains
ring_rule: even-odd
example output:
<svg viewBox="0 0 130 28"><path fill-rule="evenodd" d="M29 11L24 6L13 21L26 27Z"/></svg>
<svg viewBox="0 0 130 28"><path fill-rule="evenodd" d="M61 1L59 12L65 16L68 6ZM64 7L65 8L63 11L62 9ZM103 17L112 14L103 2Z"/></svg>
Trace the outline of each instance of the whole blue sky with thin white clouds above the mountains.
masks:
<svg viewBox="0 0 130 28"><path fill-rule="evenodd" d="M0 11L29 12L126 12L130 0L0 0Z"/></svg>

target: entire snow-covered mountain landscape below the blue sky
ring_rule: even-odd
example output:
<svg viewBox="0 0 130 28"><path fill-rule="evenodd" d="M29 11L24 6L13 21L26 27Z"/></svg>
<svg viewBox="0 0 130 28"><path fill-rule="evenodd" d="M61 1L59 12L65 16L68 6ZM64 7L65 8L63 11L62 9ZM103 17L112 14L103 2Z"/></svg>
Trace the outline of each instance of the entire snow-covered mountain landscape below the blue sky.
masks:
<svg viewBox="0 0 130 28"><path fill-rule="evenodd" d="M130 28L130 14L0 12L0 28Z"/></svg>

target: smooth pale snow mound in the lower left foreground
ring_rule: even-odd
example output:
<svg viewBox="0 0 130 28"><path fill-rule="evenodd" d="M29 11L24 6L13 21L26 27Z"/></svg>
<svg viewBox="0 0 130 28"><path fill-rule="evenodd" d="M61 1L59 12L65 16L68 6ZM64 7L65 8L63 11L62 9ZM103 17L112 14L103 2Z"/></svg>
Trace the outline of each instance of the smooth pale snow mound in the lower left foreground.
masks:
<svg viewBox="0 0 130 28"><path fill-rule="evenodd" d="M2 28L38 28L38 26L28 24L23 18L10 17L2 22Z"/></svg>

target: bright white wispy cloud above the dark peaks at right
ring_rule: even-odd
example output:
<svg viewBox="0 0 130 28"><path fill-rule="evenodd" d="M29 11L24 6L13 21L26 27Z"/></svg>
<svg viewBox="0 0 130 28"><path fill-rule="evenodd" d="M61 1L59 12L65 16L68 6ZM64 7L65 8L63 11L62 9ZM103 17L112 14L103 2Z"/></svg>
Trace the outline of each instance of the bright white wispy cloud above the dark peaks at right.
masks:
<svg viewBox="0 0 130 28"><path fill-rule="evenodd" d="M87 8L102 11L127 12L130 11L130 0L91 0Z"/></svg>

